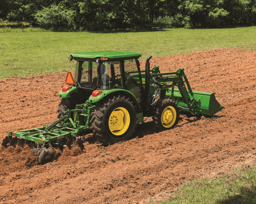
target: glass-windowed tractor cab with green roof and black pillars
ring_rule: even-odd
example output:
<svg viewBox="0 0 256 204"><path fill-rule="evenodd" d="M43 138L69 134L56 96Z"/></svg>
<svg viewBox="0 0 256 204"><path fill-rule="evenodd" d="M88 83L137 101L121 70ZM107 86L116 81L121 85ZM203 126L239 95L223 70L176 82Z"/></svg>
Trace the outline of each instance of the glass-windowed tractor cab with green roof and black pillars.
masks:
<svg viewBox="0 0 256 204"><path fill-rule="evenodd" d="M118 53L118 55L116 54ZM77 57L79 54L79 57ZM104 52L72 53L70 60L76 60L74 86L80 102L86 101L94 90L126 89L140 103L142 79L138 58L140 53ZM84 57L81 57L81 56ZM93 58L89 58L93 57Z"/></svg>

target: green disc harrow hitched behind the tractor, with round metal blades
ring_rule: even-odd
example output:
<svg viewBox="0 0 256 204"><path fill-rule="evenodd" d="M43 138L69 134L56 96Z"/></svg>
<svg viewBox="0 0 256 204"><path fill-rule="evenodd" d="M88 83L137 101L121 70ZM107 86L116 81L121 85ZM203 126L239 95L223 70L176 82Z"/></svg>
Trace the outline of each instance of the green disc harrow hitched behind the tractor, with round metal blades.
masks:
<svg viewBox="0 0 256 204"><path fill-rule="evenodd" d="M33 128L22 131L9 131L2 141L2 146L24 146L33 148L38 164L46 164L58 158L56 149L62 150L66 146L79 146L84 148L83 140L79 136L82 131L90 128L88 125L89 114L94 106L80 104L76 109L67 109L65 116L54 121L50 125L43 125L40 128ZM79 121L76 118L79 115ZM74 118L74 119L72 119Z"/></svg>

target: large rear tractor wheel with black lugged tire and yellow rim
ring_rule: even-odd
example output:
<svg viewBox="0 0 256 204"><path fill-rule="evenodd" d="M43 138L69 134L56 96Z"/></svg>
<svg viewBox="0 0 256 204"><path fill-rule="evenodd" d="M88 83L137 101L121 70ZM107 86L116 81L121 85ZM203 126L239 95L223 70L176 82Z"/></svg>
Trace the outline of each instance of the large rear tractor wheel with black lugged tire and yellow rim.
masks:
<svg viewBox="0 0 256 204"><path fill-rule="evenodd" d="M107 96L91 114L93 134L103 145L128 140L135 131L136 114L133 102L126 96Z"/></svg>

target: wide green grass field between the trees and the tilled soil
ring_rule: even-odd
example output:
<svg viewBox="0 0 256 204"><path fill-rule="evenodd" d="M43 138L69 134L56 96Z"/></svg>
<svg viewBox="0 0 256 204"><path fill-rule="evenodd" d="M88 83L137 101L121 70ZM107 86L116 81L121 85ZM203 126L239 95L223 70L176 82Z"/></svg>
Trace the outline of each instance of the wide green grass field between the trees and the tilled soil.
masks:
<svg viewBox="0 0 256 204"><path fill-rule="evenodd" d="M72 52L134 51L142 59L223 47L256 49L256 27L166 29L154 32L7 32L0 33L0 79L74 70Z"/></svg>

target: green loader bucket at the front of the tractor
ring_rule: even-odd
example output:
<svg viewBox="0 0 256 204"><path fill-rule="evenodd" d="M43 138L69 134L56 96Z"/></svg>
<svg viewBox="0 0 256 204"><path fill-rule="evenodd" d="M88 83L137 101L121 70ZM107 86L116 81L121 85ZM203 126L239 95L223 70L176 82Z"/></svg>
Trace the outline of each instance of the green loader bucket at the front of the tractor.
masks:
<svg viewBox="0 0 256 204"><path fill-rule="evenodd" d="M169 92L170 93L170 92ZM169 94L167 93L167 94ZM194 98L199 102L198 108L196 112L193 114L203 114L212 116L222 109L224 109L221 104L216 100L214 93L209 92L202 92L202 91L193 91ZM191 95L189 94L190 98L192 99ZM178 106L181 106L181 111L190 112L188 109L188 105L184 103L181 93L179 89L174 89L174 101L177 103Z"/></svg>

